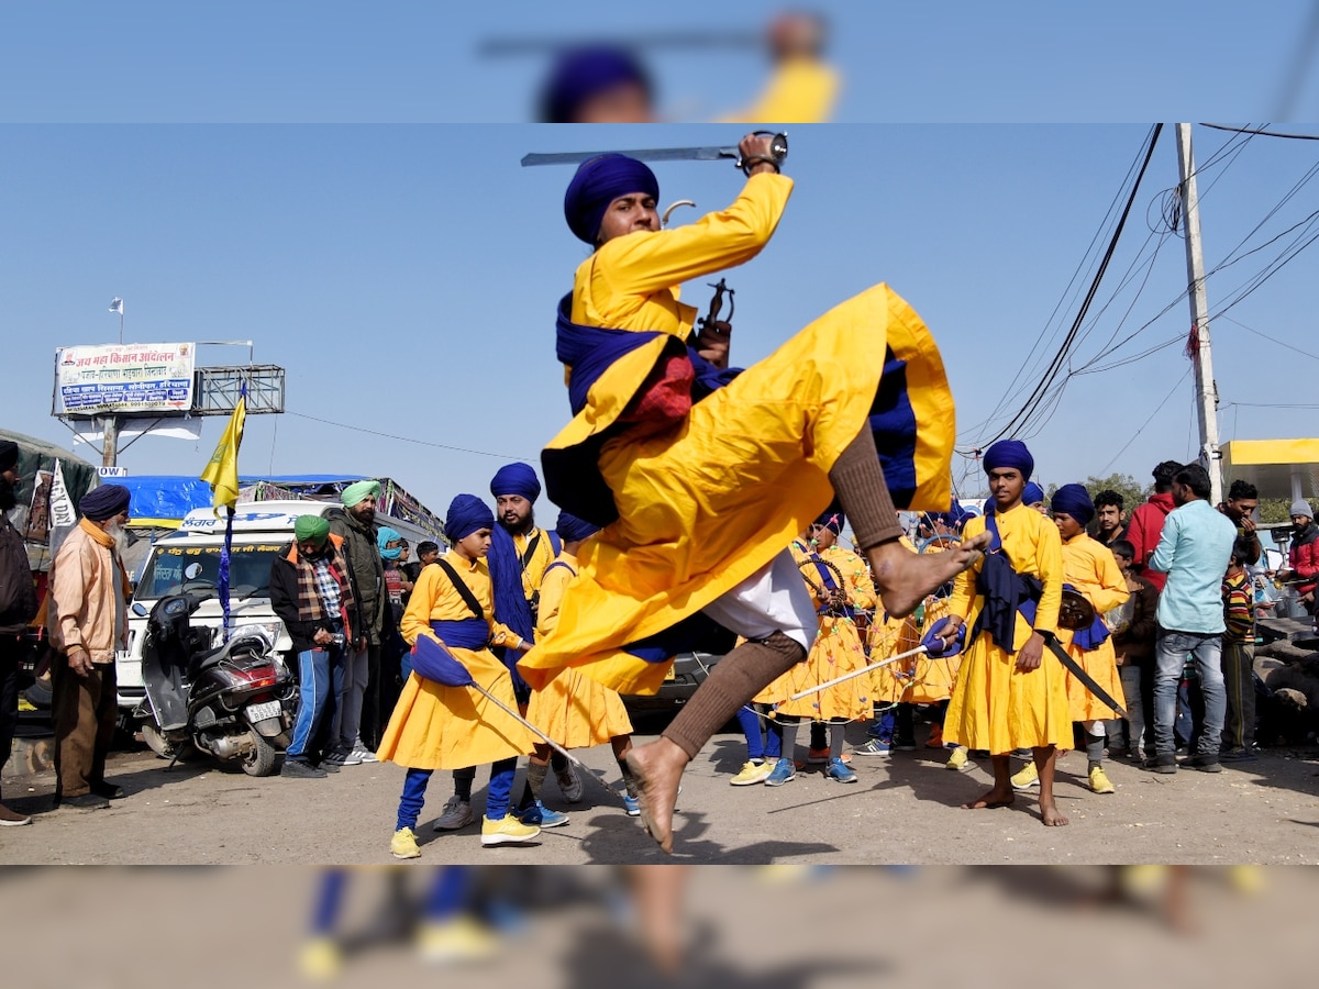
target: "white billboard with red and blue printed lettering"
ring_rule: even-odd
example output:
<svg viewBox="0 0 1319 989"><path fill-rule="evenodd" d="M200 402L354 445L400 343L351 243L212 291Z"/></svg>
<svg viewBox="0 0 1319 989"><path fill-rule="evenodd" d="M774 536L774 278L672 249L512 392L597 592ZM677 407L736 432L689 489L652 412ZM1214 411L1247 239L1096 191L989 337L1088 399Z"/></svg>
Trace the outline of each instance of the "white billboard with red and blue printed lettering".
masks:
<svg viewBox="0 0 1319 989"><path fill-rule="evenodd" d="M189 413L197 344L132 343L55 351L55 415Z"/></svg>

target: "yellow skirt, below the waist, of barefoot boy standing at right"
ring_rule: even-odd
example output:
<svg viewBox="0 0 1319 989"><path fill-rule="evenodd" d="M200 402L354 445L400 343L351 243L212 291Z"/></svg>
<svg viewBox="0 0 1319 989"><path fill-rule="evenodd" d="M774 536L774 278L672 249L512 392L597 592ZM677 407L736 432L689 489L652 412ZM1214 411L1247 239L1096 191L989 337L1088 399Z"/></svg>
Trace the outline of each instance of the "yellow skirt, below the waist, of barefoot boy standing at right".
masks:
<svg viewBox="0 0 1319 989"><path fill-rule="evenodd" d="M1017 671L1017 657L976 636L958 671L943 740L1004 756L1021 748L1071 748L1066 669L1045 649L1038 669Z"/></svg>

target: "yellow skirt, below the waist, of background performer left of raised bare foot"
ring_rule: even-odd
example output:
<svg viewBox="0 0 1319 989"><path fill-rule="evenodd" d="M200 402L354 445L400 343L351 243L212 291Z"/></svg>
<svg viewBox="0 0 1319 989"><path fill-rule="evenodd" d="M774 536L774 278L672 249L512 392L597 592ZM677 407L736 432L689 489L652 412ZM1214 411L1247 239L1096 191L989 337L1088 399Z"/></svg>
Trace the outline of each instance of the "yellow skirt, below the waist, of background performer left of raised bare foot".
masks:
<svg viewBox="0 0 1319 989"><path fill-rule="evenodd" d="M852 620L822 614L820 630L806 662L774 680L765 695L773 696L769 703L776 705L776 715L807 717L813 721L860 721L872 715L869 675L824 687L801 700L789 698L865 666L865 653Z"/></svg>

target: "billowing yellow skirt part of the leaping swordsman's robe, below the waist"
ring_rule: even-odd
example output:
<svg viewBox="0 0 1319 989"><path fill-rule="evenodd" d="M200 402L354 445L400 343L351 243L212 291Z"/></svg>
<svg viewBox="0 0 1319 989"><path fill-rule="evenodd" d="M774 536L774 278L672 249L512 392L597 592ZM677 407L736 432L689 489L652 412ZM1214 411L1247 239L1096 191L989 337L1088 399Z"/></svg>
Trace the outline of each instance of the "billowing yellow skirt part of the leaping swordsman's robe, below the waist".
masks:
<svg viewBox="0 0 1319 989"><path fill-rule="evenodd" d="M671 662L645 662L621 646L736 587L828 505L828 471L867 425L886 347L906 361L918 423L910 505L946 509L956 430L943 364L921 318L878 285L698 402L678 426L605 443L599 467L619 521L582 547L558 626L518 665L526 680L541 686L576 666L625 694L657 691Z"/></svg>

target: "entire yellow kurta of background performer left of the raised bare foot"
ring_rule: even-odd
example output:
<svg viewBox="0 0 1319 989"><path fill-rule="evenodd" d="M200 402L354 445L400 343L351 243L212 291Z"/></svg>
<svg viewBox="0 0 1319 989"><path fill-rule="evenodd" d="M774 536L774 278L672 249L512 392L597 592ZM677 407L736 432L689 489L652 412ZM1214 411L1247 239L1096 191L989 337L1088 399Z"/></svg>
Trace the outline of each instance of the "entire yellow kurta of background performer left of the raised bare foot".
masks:
<svg viewBox="0 0 1319 989"><path fill-rule="evenodd" d="M793 558L801 566L802 574L810 578L807 587L811 599L819 607L816 587L824 585L819 570L811 562L811 554L805 546L794 542L791 549ZM871 579L869 567L860 556L840 546L822 550L819 555L842 571L848 604L861 609L874 607L874 582ZM838 580L838 575L832 571L830 571L830 576L832 580ZM776 715L809 717L816 721L868 719L873 709L869 675L853 676L851 680L826 687L801 700L789 700L793 694L860 670L865 665L865 650L856 633L856 622L845 616L820 614L819 634L815 637L815 644L811 646L806 662L798 663L774 680L761 696L772 698L769 703L774 704Z"/></svg>

